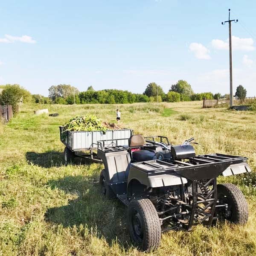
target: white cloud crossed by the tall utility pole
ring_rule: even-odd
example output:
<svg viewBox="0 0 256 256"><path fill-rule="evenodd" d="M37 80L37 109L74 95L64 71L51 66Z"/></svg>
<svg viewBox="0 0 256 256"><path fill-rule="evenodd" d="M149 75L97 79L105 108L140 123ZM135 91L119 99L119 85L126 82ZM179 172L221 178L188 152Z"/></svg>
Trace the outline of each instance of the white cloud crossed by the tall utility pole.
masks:
<svg viewBox="0 0 256 256"><path fill-rule="evenodd" d="M239 38L232 36L232 49L243 50L243 51L253 51L255 47L253 46L252 38ZM212 47L218 50L228 50L229 49L229 39L222 41L220 39L212 40Z"/></svg>

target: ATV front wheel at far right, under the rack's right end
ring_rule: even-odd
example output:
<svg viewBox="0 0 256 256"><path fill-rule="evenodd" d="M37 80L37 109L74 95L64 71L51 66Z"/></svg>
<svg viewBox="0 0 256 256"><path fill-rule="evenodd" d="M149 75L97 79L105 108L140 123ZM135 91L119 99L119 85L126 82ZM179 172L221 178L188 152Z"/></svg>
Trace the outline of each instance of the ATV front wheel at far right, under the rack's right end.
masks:
<svg viewBox="0 0 256 256"><path fill-rule="evenodd" d="M248 204L241 190L231 183L217 185L219 204L227 204L227 210L217 208L217 217L230 222L244 225L248 221Z"/></svg>

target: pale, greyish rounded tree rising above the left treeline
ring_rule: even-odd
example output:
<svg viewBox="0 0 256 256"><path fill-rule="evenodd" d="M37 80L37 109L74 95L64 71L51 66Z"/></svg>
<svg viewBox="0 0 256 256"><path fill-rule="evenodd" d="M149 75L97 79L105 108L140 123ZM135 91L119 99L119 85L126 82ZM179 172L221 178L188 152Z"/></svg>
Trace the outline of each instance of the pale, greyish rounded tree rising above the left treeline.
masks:
<svg viewBox="0 0 256 256"><path fill-rule="evenodd" d="M49 89L49 97L55 101L56 98L61 97L67 99L71 94L79 94L79 90L70 84L52 85Z"/></svg>

